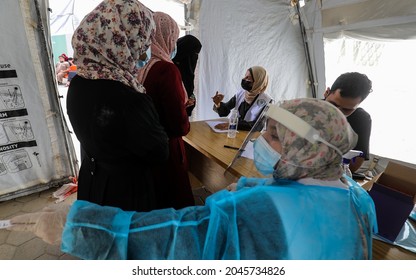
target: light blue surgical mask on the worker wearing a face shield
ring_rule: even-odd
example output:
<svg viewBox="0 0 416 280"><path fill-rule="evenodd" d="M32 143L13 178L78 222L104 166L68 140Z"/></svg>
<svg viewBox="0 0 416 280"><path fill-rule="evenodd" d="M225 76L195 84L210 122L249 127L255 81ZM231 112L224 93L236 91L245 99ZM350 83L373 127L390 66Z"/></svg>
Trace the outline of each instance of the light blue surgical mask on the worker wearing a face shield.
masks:
<svg viewBox="0 0 416 280"><path fill-rule="evenodd" d="M273 174L280 157L281 155L267 143L263 136L259 136L254 141L254 165L261 174L265 176Z"/></svg>

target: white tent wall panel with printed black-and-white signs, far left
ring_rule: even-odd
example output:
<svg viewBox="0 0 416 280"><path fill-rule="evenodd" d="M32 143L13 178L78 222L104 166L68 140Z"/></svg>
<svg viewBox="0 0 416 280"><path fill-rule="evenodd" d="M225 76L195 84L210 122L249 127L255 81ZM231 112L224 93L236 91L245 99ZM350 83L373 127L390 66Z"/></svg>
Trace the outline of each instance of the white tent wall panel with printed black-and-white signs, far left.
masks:
<svg viewBox="0 0 416 280"><path fill-rule="evenodd" d="M45 0L0 2L0 201L59 186L77 172L47 8Z"/></svg>

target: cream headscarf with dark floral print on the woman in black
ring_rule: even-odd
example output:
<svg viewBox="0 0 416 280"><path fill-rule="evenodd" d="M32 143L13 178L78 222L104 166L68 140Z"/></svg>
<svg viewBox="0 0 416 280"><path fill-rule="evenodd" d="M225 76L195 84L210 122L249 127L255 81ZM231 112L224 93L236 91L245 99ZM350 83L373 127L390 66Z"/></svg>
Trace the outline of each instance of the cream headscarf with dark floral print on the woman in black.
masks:
<svg viewBox="0 0 416 280"><path fill-rule="evenodd" d="M154 29L152 12L137 0L104 0L72 37L77 74L120 81L144 93L136 63L149 48Z"/></svg>

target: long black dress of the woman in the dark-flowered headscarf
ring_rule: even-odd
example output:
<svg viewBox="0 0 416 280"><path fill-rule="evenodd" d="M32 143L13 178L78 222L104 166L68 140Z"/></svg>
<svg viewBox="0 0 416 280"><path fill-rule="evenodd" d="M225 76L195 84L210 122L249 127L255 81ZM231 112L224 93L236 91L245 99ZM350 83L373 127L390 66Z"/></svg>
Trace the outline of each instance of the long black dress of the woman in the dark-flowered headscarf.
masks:
<svg viewBox="0 0 416 280"><path fill-rule="evenodd" d="M168 157L168 137L151 98L111 80L75 76L67 113L84 157L78 199L123 210L156 209L151 167Z"/></svg>

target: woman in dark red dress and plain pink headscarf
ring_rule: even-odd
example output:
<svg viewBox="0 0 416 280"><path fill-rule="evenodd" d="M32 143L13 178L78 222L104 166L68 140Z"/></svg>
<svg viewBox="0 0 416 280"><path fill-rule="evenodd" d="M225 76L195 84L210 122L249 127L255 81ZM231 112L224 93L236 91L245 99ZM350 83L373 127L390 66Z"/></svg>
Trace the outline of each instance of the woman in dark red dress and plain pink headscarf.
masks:
<svg viewBox="0 0 416 280"><path fill-rule="evenodd" d="M138 74L159 113L160 123L169 137L169 160L154 169L159 208L180 209L194 205L188 176L188 161L182 136L190 125L186 112L186 92L181 74L172 62L179 37L177 23L167 14L155 12L156 31L152 35L152 55Z"/></svg>

